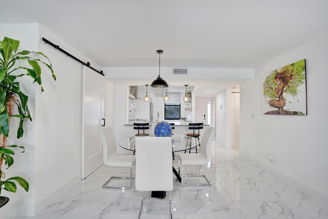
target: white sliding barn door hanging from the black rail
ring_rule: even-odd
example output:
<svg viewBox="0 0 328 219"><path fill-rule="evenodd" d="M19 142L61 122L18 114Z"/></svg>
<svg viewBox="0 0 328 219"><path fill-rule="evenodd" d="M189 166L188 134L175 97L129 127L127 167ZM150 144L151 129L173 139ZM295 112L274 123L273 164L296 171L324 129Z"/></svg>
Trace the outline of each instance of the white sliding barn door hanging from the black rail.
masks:
<svg viewBox="0 0 328 219"><path fill-rule="evenodd" d="M103 164L100 130L104 118L103 75L83 68L82 178Z"/></svg>

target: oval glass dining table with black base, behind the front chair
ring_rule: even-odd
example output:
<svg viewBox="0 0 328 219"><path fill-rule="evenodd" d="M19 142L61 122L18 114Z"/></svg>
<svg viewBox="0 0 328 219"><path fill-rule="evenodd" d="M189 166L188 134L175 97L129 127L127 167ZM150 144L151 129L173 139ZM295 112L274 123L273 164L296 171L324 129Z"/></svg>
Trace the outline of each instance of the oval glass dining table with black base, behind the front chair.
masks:
<svg viewBox="0 0 328 219"><path fill-rule="evenodd" d="M141 137L141 136L139 136ZM149 136L142 136L142 137L149 137ZM124 148L129 151L133 151L133 154L135 154L135 138L136 136L131 136L128 138L125 138L124 140L119 142L119 146L121 148ZM175 152L191 152L191 149L196 148L199 145L199 142L196 143L196 138L182 135L182 134L173 134L171 136L172 138L172 156L174 160L174 153ZM196 150L197 152L197 150ZM177 177L178 181L181 182L181 177L176 171L176 169L173 167L173 172L175 176Z"/></svg>

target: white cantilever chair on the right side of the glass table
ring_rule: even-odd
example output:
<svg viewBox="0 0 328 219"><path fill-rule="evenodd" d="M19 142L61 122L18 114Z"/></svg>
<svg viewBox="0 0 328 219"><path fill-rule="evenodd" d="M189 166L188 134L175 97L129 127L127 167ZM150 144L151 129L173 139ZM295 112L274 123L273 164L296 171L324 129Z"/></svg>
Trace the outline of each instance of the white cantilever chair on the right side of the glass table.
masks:
<svg viewBox="0 0 328 219"><path fill-rule="evenodd" d="M185 175L184 168L188 165L207 165L211 158L211 139L214 128L206 127L200 140L200 153L179 154L179 173L181 168L181 183L183 186L211 186L205 175ZM206 183L187 183L188 178L203 178Z"/></svg>

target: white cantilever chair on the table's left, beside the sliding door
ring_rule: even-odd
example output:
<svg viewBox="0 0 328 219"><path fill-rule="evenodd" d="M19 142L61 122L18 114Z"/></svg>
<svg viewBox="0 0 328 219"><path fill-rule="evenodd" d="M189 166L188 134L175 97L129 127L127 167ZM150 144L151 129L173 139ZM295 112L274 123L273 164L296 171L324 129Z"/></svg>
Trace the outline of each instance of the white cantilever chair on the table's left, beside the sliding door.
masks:
<svg viewBox="0 0 328 219"><path fill-rule="evenodd" d="M120 155L116 154L116 141L111 127L104 126L100 128L101 134L101 145L103 146L104 153L104 164L109 167L126 167L130 168L130 177L124 176L112 176L109 180L103 185L103 188L108 189L130 189L133 185L133 176L132 176L132 167L135 164L134 155ZM129 186L110 186L109 184L113 181L130 181Z"/></svg>

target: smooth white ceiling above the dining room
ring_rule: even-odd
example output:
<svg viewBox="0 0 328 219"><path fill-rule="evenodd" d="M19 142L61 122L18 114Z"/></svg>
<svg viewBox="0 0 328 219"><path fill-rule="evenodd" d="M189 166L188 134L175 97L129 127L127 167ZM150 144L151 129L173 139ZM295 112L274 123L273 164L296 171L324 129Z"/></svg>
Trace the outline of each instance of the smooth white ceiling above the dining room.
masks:
<svg viewBox="0 0 328 219"><path fill-rule="evenodd" d="M258 73L328 32L327 0L0 1L0 23L40 23L101 67L158 67L162 49L161 67ZM204 79L199 87L220 90L225 81Z"/></svg>

